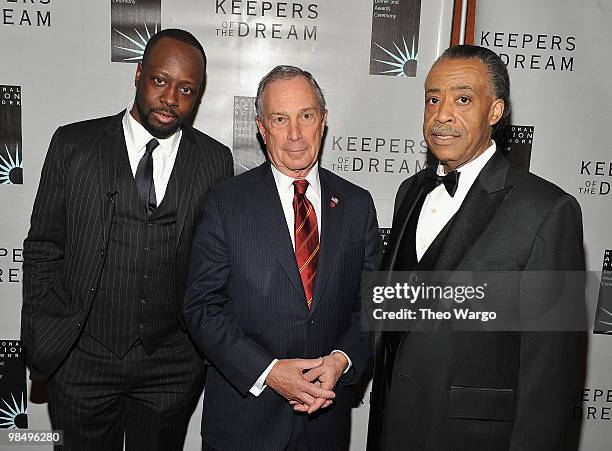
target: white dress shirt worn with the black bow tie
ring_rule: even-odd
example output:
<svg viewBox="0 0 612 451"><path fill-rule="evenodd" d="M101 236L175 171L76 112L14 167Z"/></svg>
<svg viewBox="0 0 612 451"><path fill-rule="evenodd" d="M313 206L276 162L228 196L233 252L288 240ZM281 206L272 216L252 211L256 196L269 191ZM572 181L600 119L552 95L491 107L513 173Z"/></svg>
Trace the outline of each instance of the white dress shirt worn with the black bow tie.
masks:
<svg viewBox="0 0 612 451"><path fill-rule="evenodd" d="M423 208L419 215L416 230L417 260L420 261L431 243L436 239L444 226L461 207L468 191L474 184L476 177L495 153L495 142L474 160L457 169L459 185L453 197L448 194L444 184L441 183L425 197ZM438 175L444 175L444 166L438 164Z"/></svg>

